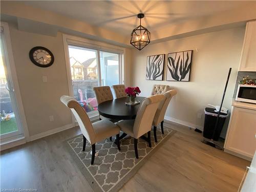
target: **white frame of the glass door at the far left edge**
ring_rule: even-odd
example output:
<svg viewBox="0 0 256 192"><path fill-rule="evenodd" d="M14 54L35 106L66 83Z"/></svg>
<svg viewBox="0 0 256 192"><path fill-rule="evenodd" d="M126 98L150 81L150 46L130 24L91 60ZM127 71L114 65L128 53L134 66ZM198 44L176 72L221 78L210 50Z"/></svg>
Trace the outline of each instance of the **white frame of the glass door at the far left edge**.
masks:
<svg viewBox="0 0 256 192"><path fill-rule="evenodd" d="M12 53L12 46L11 46L11 37L10 37L10 30L8 23L1 22L1 28L4 30L4 41L5 41L5 49L7 54L7 70L8 75L10 76L10 88L12 90L15 90L13 95L13 100L15 101L15 106L13 106L13 111L16 118L17 128L18 132L13 132L9 134L3 134L1 135L1 145L5 144L5 149L9 148L6 144L9 144L11 142L16 142L17 140L25 139L24 143L26 141L29 141L29 131L28 131L28 125L26 121L26 116L23 108L22 103L22 97L20 95L19 86L18 86L18 79L15 69L15 63ZM11 145L11 144L10 144ZM1 150L3 147L1 148Z"/></svg>

